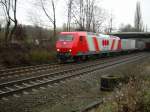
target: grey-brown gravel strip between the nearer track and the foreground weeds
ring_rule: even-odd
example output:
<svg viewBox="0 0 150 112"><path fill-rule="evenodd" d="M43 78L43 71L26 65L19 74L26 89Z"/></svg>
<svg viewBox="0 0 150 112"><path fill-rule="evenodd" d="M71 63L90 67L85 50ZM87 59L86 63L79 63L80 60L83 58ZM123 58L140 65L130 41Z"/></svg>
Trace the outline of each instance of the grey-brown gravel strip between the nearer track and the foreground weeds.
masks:
<svg viewBox="0 0 150 112"><path fill-rule="evenodd" d="M121 71L125 67L142 63L142 59L132 64L115 67L113 71ZM150 60L150 58L149 58ZM0 101L0 112L71 112L85 107L93 101L100 100L106 93L99 91L99 79L103 74L111 73L112 69L101 72L93 72L53 87L41 88L39 92L33 92L19 98L9 98L8 101ZM60 86L61 85L61 86Z"/></svg>

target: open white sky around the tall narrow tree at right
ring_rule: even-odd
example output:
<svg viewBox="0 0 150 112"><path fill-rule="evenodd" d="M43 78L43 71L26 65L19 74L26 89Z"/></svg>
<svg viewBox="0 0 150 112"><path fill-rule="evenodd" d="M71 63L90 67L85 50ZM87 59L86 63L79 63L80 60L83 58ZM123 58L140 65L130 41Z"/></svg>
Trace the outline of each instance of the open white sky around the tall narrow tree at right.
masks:
<svg viewBox="0 0 150 112"><path fill-rule="evenodd" d="M140 1L143 23L150 27L150 0L103 0L102 7L114 15L114 25L134 25L136 2Z"/></svg>

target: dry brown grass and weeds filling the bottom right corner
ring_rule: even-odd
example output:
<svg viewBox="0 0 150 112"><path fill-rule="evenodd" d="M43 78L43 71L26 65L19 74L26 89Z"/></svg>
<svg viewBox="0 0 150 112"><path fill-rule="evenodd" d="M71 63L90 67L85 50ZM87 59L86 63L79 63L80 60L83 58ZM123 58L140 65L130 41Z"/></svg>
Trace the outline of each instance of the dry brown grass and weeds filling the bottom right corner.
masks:
<svg viewBox="0 0 150 112"><path fill-rule="evenodd" d="M150 112L150 59L112 74L124 75L127 83L106 98L95 112Z"/></svg>

